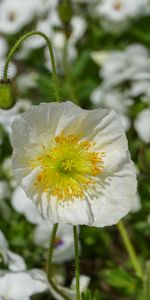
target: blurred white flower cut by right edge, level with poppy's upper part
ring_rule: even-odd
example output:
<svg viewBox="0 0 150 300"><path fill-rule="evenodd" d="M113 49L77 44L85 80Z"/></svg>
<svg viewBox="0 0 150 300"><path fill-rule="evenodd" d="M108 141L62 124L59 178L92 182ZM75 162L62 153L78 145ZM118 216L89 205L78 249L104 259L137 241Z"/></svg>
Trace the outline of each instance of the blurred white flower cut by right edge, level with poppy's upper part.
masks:
<svg viewBox="0 0 150 300"><path fill-rule="evenodd" d="M150 108L141 111L135 122L134 127L144 143L150 143Z"/></svg>

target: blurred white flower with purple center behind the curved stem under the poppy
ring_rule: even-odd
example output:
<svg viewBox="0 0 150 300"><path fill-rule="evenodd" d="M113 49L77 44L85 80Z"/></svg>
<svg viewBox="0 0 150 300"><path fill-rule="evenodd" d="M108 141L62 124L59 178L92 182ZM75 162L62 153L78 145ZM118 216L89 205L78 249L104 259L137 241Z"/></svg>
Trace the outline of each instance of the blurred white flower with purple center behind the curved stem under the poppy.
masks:
<svg viewBox="0 0 150 300"><path fill-rule="evenodd" d="M49 247L52 224L43 221L36 226L34 241L46 249ZM63 263L74 258L74 239L72 226L59 226L54 244L53 261Z"/></svg>

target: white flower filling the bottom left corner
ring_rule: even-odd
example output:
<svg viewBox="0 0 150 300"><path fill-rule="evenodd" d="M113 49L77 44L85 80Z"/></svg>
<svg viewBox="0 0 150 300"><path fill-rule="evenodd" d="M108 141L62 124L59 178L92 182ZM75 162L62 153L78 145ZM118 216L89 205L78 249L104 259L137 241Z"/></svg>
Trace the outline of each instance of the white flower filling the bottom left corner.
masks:
<svg viewBox="0 0 150 300"><path fill-rule="evenodd" d="M0 297L8 300L29 300L32 295L45 292L48 289L47 281L44 276L38 276L38 273L42 272L38 269L16 273L0 272Z"/></svg>

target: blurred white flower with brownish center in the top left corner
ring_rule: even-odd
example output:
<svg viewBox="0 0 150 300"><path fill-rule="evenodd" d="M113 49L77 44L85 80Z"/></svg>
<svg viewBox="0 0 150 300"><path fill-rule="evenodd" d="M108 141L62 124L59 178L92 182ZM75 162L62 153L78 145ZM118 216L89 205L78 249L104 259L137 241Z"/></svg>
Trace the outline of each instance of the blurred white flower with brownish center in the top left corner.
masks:
<svg viewBox="0 0 150 300"><path fill-rule="evenodd" d="M37 0L5 0L0 4L0 32L15 34L35 17Z"/></svg>

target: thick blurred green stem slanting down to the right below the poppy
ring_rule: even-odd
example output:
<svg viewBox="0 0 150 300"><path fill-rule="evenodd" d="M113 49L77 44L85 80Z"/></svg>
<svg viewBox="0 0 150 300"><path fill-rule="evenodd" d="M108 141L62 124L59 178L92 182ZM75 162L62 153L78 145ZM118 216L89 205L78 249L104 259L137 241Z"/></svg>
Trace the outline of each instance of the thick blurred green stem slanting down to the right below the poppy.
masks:
<svg viewBox="0 0 150 300"><path fill-rule="evenodd" d="M128 255L130 257L130 260L131 260L131 263L133 265L133 268L136 272L136 274L141 277L143 279L144 277L144 274L143 274L143 271L142 271L142 268L141 268L141 265L139 263L139 260L138 260L138 257L137 257L137 254L134 250L134 247L131 243L131 240L129 238L129 235L128 235L128 232L126 231L126 228L124 226L124 223L123 221L120 221L118 224L117 224L117 227L118 227L118 230L120 232L120 235L123 239L123 242L124 242L124 245L126 247L126 250L128 252Z"/></svg>

